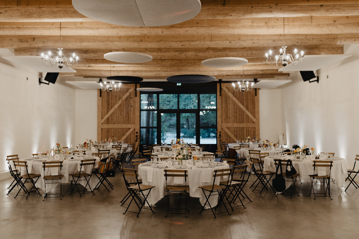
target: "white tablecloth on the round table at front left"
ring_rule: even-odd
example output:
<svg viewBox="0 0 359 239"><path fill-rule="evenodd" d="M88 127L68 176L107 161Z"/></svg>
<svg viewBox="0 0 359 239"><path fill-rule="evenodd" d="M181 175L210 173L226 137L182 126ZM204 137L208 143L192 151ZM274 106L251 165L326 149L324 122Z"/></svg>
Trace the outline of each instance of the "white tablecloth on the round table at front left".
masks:
<svg viewBox="0 0 359 239"><path fill-rule="evenodd" d="M72 177L70 176L70 173L76 173L80 169L80 159L79 159L79 157L69 156L69 158L71 158L71 157L73 157L74 159L72 159L72 160L67 159L67 160L62 161L61 174L64 175L64 177L62 178L62 183L70 182L72 180ZM98 157L84 156L83 159L96 159L95 168L98 168L98 161L99 161ZM44 170L42 168L43 162L39 161L39 160L46 160L47 161L47 157L41 157L40 159L34 159L34 157L25 158L25 159L19 159L19 161L26 161L27 162L29 173L34 173L34 174L40 174L41 175L41 177L37 180L37 183L35 184L35 186L40 188L41 190L45 191L45 183L44 183L44 180L43 180ZM85 167L84 172L91 173L92 166L84 166L84 167ZM50 170L51 170L51 168L46 168L46 175L51 175ZM20 172L21 172L21 175L25 175L26 174L26 169L23 168L23 167L20 167ZM60 173L60 169L59 169L58 173ZM99 182L98 178L95 175L92 175L92 177L90 179L90 182L89 182L89 185L90 185L92 190L94 189L94 187L97 185L98 182ZM84 181L79 181L78 183L80 183L82 186L85 186L87 184L87 182L85 180ZM47 183L46 184L46 192L50 192L56 186L57 186L57 184L55 184L55 183L53 183L53 184ZM89 189L88 186L87 186L87 189Z"/></svg>

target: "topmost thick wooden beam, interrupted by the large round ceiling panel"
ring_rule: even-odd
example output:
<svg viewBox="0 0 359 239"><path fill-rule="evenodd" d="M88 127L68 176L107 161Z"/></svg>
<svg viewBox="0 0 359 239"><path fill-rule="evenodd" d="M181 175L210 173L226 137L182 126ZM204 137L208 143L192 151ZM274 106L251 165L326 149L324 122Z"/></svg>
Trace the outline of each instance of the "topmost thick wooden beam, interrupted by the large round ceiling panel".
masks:
<svg viewBox="0 0 359 239"><path fill-rule="evenodd" d="M290 3L290 1L287 1ZM294 2L294 1L293 1ZM297 1L295 1L296 3ZM3 4L4 5L4 4ZM93 21L69 6L29 5L26 7L1 6L0 21ZM359 15L359 4L317 4L317 5L224 5L202 6L195 19L225 18L271 18L300 16L355 16Z"/></svg>

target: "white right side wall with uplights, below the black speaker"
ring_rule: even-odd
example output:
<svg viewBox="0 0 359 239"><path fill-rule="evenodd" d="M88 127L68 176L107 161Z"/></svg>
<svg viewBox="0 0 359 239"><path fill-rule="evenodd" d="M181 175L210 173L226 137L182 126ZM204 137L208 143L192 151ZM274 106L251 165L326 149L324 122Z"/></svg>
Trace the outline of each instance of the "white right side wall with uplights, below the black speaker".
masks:
<svg viewBox="0 0 359 239"><path fill-rule="evenodd" d="M359 154L358 65L358 59L348 58L321 69L319 83L302 81L282 90L290 146L334 152L353 166Z"/></svg>

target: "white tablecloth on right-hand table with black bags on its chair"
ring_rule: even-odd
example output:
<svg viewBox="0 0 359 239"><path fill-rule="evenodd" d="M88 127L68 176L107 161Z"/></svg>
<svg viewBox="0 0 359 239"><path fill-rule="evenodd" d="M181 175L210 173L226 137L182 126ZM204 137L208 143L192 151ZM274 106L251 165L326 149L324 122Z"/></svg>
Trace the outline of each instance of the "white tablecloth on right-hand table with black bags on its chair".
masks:
<svg viewBox="0 0 359 239"><path fill-rule="evenodd" d="M281 158L281 157L275 157L275 156L269 156L264 158L264 170L265 171L276 171L276 167L274 164L275 158ZM293 167L299 174L300 178L305 178L313 174L313 160L314 158L311 155L307 155L307 158L304 158L300 161L296 161L297 159L294 159L294 156L285 156L286 159L292 159ZM333 165L331 169L330 177L334 180L334 185L338 187L338 192L342 193L341 187L344 185L345 178L348 176L347 174L347 168L344 158L328 158L327 160L332 160ZM283 172L285 172L285 167L282 168ZM329 168L326 167L326 173L329 175ZM317 174L317 172L315 172Z"/></svg>

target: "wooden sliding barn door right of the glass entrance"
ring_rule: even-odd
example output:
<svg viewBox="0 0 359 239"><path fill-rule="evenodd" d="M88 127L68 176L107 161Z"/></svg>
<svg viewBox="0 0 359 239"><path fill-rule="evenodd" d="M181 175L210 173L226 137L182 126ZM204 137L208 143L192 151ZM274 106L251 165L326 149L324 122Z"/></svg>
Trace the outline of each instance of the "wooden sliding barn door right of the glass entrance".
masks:
<svg viewBox="0 0 359 239"><path fill-rule="evenodd" d="M231 83L217 84L217 137L225 143L259 134L259 90L234 91Z"/></svg>

